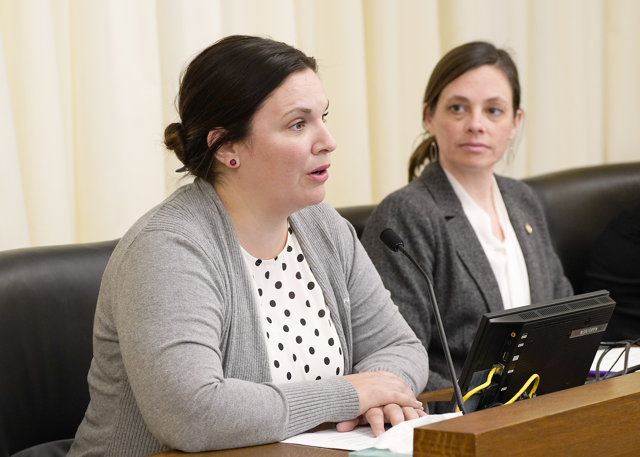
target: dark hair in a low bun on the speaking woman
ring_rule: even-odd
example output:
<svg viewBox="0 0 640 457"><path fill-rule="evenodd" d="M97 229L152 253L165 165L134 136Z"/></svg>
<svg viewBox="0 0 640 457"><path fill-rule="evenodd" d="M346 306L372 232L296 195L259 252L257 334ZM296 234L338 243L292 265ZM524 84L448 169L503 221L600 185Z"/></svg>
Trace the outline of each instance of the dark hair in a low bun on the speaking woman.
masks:
<svg viewBox="0 0 640 457"><path fill-rule="evenodd" d="M180 80L177 109L181 122L164 129L164 145L189 172L213 184L216 152L223 144L251 134L253 115L294 72L317 72L316 59L285 43L259 36L231 35L200 52ZM223 134L207 145L209 131Z"/></svg>

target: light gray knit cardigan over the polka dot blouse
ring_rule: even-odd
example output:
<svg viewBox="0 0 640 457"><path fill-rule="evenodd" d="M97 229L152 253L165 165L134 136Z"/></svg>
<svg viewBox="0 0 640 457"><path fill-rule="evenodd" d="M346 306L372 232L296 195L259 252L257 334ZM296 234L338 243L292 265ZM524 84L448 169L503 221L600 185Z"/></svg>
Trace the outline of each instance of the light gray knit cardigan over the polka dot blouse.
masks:
<svg viewBox="0 0 640 457"><path fill-rule="evenodd" d="M344 351L345 374L387 370L419 393L425 349L353 227L327 204L289 218ZM283 440L358 414L341 376L274 385L227 211L196 180L140 218L102 278L91 403L69 456L145 456Z"/></svg>

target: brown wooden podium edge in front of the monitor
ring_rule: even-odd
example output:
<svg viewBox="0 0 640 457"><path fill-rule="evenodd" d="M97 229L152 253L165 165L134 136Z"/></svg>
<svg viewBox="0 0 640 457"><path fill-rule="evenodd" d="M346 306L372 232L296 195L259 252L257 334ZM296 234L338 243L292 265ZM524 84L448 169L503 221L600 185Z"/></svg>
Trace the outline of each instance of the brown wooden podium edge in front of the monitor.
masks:
<svg viewBox="0 0 640 457"><path fill-rule="evenodd" d="M640 373L416 428L415 457L632 455L640 448Z"/></svg>

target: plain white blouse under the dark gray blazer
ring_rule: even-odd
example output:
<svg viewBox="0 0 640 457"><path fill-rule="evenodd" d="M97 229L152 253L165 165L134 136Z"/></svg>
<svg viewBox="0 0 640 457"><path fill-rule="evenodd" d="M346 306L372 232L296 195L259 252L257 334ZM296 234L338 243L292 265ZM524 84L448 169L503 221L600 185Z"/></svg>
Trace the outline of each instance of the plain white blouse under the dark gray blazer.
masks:
<svg viewBox="0 0 640 457"><path fill-rule="evenodd" d="M504 234L504 241L500 241L493 235L491 218L463 188L462 184L447 170L444 170L451 187L462 204L462 210L471 223L476 236L480 241L486 258L489 261L493 275L498 282L502 305L504 309L531 305L531 291L529 289L529 275L527 265L524 262L522 248L518 243L516 232L509 220L507 207L502 200L502 194L498 183L493 179L493 205L498 215L498 221Z"/></svg>

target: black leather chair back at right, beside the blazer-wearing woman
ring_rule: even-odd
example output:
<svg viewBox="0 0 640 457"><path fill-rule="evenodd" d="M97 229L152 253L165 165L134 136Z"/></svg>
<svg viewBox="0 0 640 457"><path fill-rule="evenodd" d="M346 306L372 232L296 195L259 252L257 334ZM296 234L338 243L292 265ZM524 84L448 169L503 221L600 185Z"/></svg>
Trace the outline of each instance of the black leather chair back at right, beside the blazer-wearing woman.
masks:
<svg viewBox="0 0 640 457"><path fill-rule="evenodd" d="M576 168L524 179L545 209L564 274L582 293L591 246L609 221L640 205L640 162Z"/></svg>

